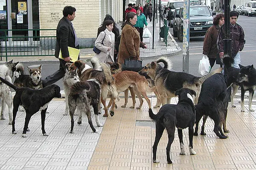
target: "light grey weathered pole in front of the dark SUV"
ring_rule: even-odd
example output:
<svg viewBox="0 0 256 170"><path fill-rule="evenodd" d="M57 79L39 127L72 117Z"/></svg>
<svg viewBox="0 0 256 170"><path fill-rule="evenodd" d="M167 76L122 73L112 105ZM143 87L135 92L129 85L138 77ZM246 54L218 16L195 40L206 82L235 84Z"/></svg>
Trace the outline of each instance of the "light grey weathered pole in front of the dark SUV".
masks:
<svg viewBox="0 0 256 170"><path fill-rule="evenodd" d="M183 6L183 72L189 73L189 0Z"/></svg>

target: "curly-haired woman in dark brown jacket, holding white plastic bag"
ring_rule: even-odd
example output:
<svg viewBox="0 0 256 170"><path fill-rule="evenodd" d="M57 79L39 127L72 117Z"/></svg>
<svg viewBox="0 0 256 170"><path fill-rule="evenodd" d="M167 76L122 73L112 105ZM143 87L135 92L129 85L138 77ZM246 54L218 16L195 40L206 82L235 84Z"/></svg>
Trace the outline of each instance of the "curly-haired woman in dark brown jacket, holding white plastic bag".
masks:
<svg viewBox="0 0 256 170"><path fill-rule="evenodd" d="M222 63L219 61L217 39L218 39L219 30L223 24L224 24L224 14L219 13L213 18L213 26L211 26L207 30L204 37L203 54L209 58L211 68L213 67L215 61L216 61L216 64L220 64L222 67ZM218 59L218 61L216 60L216 58Z"/></svg>

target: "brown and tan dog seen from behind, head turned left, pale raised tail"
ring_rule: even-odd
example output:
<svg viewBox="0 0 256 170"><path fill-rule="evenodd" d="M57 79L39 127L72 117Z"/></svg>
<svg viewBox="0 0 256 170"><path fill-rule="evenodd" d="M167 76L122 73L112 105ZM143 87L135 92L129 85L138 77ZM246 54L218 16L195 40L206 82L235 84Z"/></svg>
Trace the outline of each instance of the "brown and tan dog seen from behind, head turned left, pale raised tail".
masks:
<svg viewBox="0 0 256 170"><path fill-rule="evenodd" d="M104 117L108 117L108 108L106 106L106 99L108 96L113 100L110 115L114 115L115 99L118 98L118 93L116 92L116 85L114 78L111 76L111 71L105 63L100 63L99 59L94 57L91 59L91 63L94 68L86 69L86 64L82 60L77 60L73 63L67 63L69 70L76 71L79 75L81 81L85 81L91 78L97 78L102 83L101 91L101 102L104 106L105 114ZM103 71L99 71L99 70Z"/></svg>

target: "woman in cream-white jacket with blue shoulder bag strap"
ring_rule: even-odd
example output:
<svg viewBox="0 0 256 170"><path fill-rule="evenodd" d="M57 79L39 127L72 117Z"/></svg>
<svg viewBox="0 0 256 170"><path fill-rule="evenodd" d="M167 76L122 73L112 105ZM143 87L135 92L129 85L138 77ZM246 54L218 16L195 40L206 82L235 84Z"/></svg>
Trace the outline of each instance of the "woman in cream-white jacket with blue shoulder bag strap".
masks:
<svg viewBox="0 0 256 170"><path fill-rule="evenodd" d="M115 34L112 32L113 24L112 20L104 21L103 25L106 29L99 33L99 37L94 43L95 47L101 51L99 54L95 54L95 57L99 58L101 62L114 62Z"/></svg>

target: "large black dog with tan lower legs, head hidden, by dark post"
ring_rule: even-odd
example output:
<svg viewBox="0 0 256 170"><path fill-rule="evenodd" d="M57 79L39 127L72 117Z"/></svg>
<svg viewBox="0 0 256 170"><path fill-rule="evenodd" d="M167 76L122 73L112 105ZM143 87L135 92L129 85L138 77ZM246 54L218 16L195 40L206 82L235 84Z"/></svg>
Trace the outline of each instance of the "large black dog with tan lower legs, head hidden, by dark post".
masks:
<svg viewBox="0 0 256 170"><path fill-rule="evenodd" d="M198 99L198 104L195 105L196 108L196 127L195 136L198 136L198 123L203 115L204 123L209 116L214 121L213 131L220 139L226 139L227 136L224 135L221 125L223 125L223 130L228 133L226 127L227 119L227 106L228 106L228 93L227 93L227 78L223 74L214 74L204 81L202 84L201 92ZM202 126L201 135L204 133L204 123Z"/></svg>

